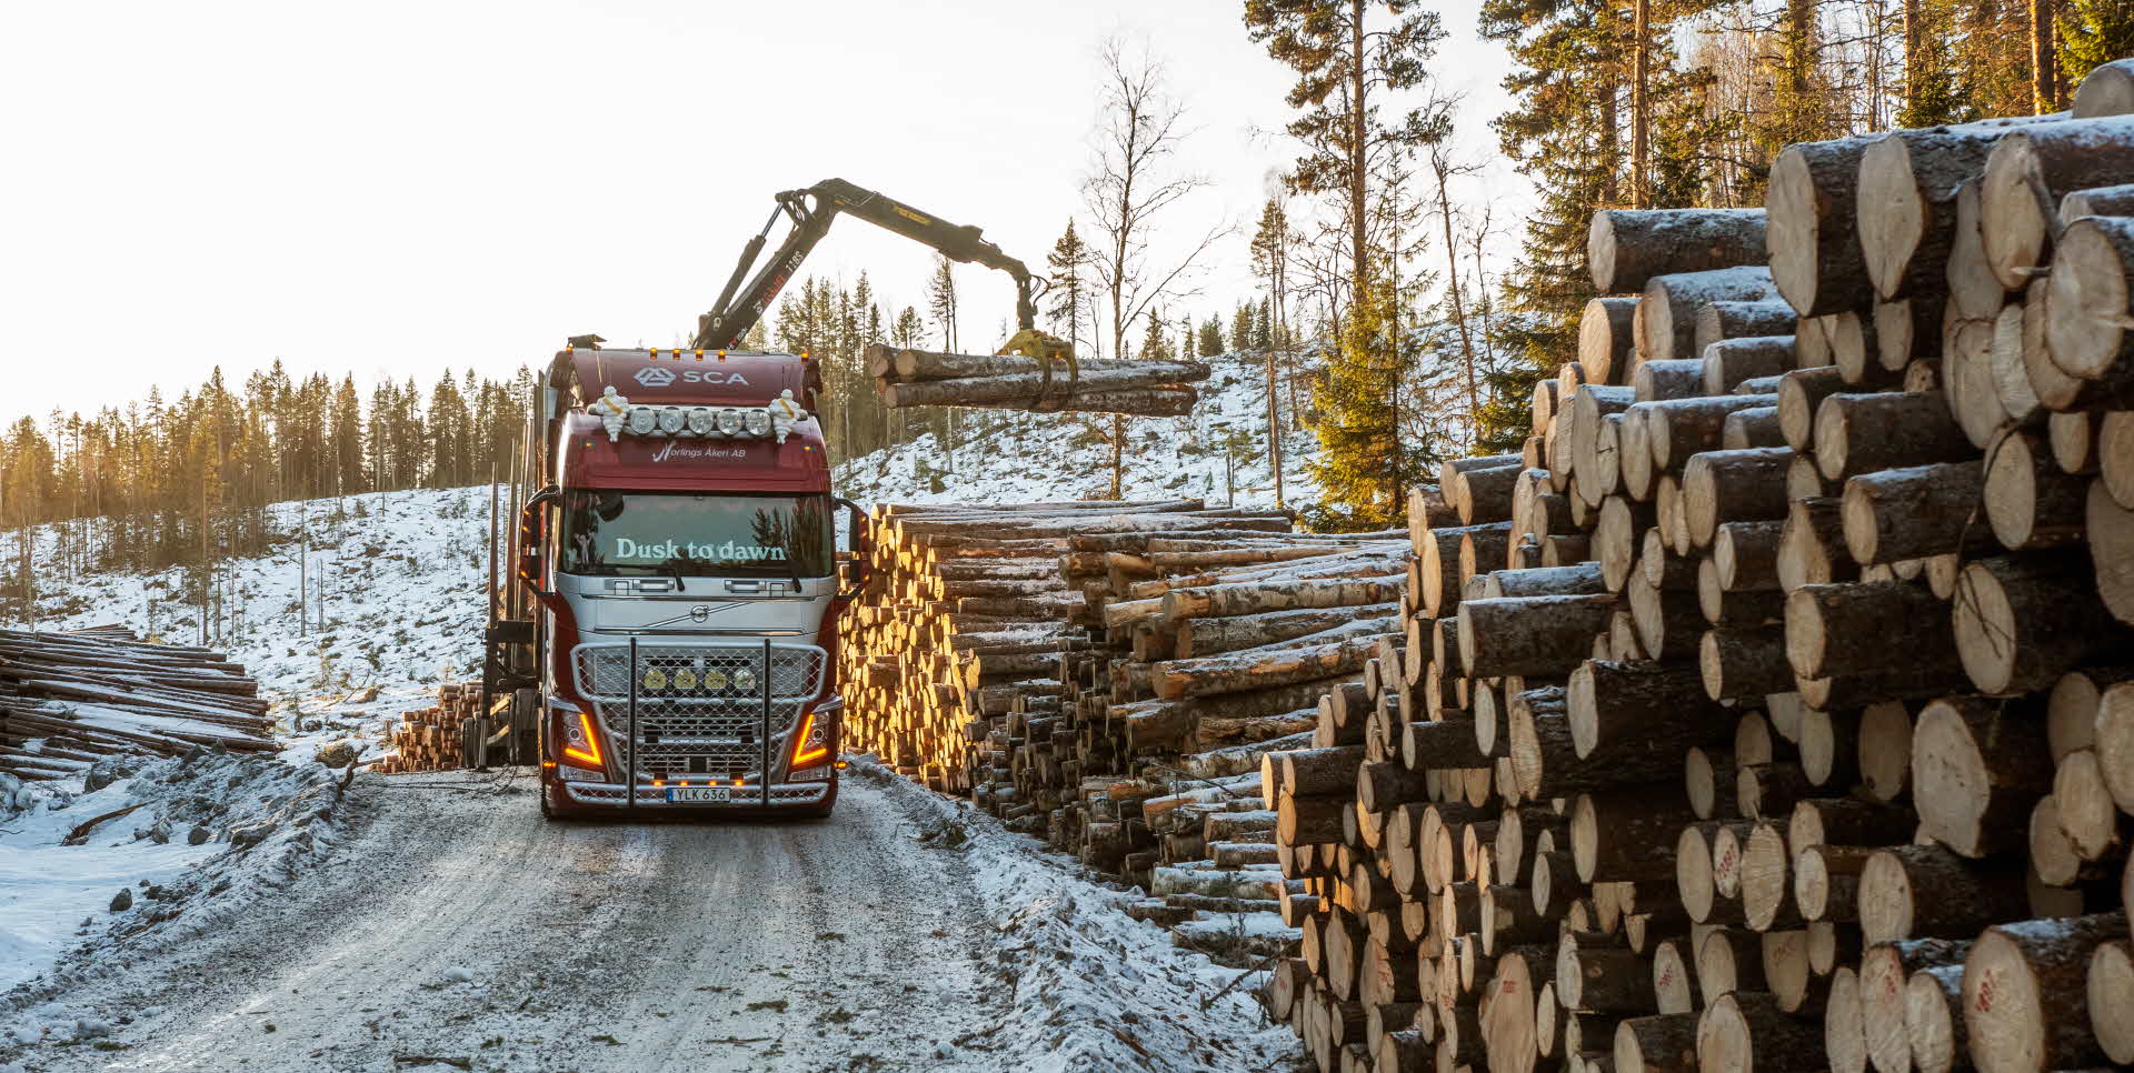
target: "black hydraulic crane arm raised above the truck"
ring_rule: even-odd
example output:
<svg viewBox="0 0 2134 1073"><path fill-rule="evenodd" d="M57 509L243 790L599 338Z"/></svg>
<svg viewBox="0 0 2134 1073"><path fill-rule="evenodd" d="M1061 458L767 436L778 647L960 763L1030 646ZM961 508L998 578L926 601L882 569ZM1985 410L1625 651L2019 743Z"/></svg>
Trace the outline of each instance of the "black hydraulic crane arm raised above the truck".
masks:
<svg viewBox="0 0 2134 1073"><path fill-rule="evenodd" d="M785 190L779 194L779 207L764 222L764 230L749 239L749 245L740 252L740 265L734 265L734 275L726 279L719 301L708 314L696 318L696 341L691 346L696 350L732 348L747 335L762 320L764 309L770 307L779 290L792 279L800 260L830 230L837 213L858 215L869 224L926 243L950 260L977 262L1005 271L1016 279L1016 326L1022 329L1016 337L1024 339L1024 333L1035 333L1037 303L1031 297L1031 269L980 237L977 228L950 224L901 201L851 186L845 179L824 179L807 190ZM764 252L764 241L770 237L770 228L777 226L779 215L792 218L792 233L751 277L749 269L755 267L755 258Z"/></svg>

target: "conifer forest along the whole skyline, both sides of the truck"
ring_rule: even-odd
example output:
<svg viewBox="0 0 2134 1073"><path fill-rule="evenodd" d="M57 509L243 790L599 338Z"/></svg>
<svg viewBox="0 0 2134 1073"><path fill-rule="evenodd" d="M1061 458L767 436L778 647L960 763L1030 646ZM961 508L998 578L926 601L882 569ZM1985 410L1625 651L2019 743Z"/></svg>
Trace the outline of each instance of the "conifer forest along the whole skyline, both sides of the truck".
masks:
<svg viewBox="0 0 2134 1073"><path fill-rule="evenodd" d="M1788 143L2057 111L2091 66L2134 53L2134 0L1481 0L1481 36L1515 64L1496 117L1443 90L1451 47L1421 2L1244 0L1240 32L1295 75L1265 102L1295 149L1280 192L1251 222L1180 222L1210 183L1176 75L1161 43L1108 41L1044 322L1095 356L1268 354L1263 433L1308 429L1321 446L1323 501L1291 506L1321 527L1383 527L1440 459L1526 435L1530 386L1575 352L1592 297L1594 209L1761 205ZM1519 220L1492 194L1494 162L1455 147L1481 122L1532 183ZM1248 260L1255 292L1204 297L1193 279L1212 258ZM918 303L864 275L802 279L755 339L824 361L832 459L926 433L954 459L988 450L975 422L883 410L860 352L997 341L960 339L958 309L956 267L937 258ZM504 474L529 375L359 388L275 361L237 386L218 371L177 399L26 416L0 435L0 527L66 523L58 557L75 567L252 552L280 535L277 499ZM1127 493L1133 422L1058 420L1110 439L1110 495ZM1283 450L1272 435L1268 450ZM30 570L21 535L13 559Z"/></svg>

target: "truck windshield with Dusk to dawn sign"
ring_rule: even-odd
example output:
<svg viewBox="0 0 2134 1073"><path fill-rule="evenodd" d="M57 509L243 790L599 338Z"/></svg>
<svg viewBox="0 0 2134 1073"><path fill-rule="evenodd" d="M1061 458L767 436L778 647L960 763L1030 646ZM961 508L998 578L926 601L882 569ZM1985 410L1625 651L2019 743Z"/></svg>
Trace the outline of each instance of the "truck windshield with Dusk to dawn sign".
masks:
<svg viewBox="0 0 2134 1073"><path fill-rule="evenodd" d="M563 572L683 578L822 578L830 497L563 493Z"/></svg>

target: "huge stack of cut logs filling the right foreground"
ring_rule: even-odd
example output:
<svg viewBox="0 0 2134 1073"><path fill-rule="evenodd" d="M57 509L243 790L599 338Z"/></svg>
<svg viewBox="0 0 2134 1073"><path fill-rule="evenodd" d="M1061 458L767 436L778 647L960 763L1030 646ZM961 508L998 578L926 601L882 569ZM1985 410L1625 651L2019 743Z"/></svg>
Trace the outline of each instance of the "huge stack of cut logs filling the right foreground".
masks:
<svg viewBox="0 0 2134 1073"><path fill-rule="evenodd" d="M1596 213L1635 297L1472 510L1411 503L1402 640L1263 757L1319 1069L2134 1062L2134 117L2085 115L2134 94L2091 83Z"/></svg>

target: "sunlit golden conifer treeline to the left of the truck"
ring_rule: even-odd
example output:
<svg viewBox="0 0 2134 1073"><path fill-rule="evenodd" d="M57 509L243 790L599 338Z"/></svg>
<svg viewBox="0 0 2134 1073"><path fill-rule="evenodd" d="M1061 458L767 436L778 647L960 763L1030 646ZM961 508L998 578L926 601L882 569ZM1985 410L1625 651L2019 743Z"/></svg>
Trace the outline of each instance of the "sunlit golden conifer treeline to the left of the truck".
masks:
<svg viewBox="0 0 2134 1073"><path fill-rule="evenodd" d="M446 371L431 386L352 375L294 380L280 361L228 384L218 369L177 399L19 418L0 439L0 525L15 527L11 587L36 570L198 563L256 555L288 533L267 506L369 491L461 486L506 474L531 371ZM30 561L28 527L60 523Z"/></svg>

